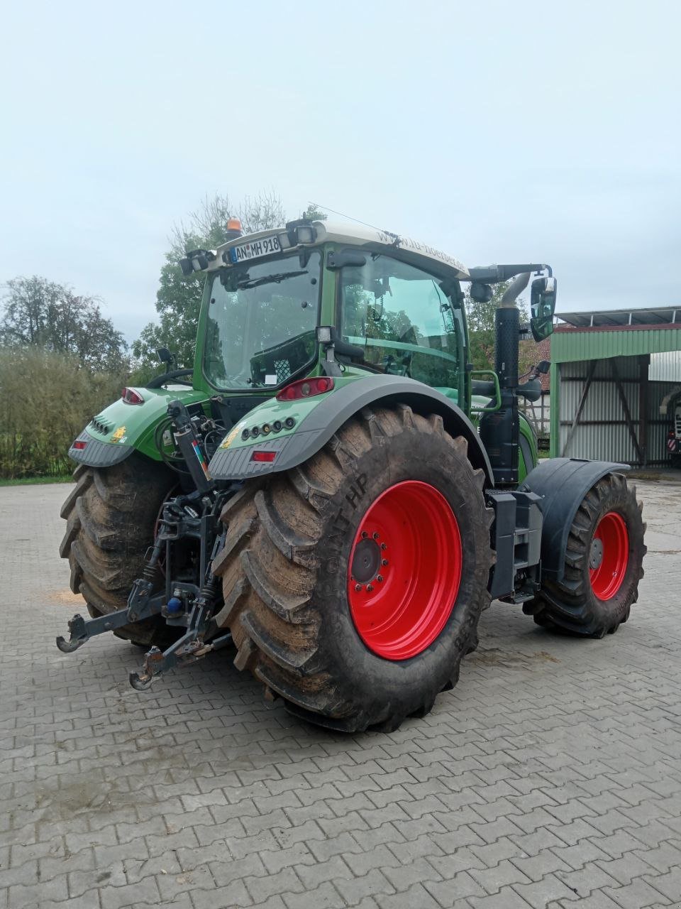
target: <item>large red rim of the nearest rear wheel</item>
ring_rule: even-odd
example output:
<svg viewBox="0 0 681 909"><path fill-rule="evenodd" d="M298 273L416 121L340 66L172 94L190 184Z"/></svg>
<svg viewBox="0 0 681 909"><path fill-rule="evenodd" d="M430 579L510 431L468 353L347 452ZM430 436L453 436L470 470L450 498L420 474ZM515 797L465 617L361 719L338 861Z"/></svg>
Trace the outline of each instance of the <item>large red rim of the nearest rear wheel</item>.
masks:
<svg viewBox="0 0 681 909"><path fill-rule="evenodd" d="M407 660L447 624L461 581L461 535L447 499L407 480L370 505L350 551L348 601L360 638Z"/></svg>

